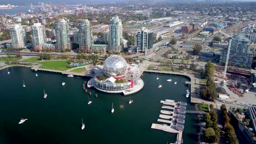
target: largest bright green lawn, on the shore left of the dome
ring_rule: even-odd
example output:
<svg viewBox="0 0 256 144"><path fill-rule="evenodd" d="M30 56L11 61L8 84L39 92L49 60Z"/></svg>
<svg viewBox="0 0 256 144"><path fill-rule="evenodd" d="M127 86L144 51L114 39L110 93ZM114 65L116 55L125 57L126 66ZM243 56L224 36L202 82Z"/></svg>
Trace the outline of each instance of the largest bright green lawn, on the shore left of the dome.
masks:
<svg viewBox="0 0 256 144"><path fill-rule="evenodd" d="M42 64L39 68L41 69L54 69L54 70L59 70L59 71L65 71L70 68L69 66L69 61L47 61L47 62L39 62Z"/></svg>

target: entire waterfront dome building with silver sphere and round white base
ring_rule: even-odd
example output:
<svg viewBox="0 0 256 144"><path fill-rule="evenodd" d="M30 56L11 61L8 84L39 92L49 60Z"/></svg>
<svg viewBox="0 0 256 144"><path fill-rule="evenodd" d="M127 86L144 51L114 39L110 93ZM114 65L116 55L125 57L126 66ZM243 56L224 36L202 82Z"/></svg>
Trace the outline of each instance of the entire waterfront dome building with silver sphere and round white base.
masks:
<svg viewBox="0 0 256 144"><path fill-rule="evenodd" d="M144 85L138 77L138 71L138 65L128 65L123 57L113 55L105 59L103 66L95 65L95 76L87 86L101 92L132 94L141 90Z"/></svg>

